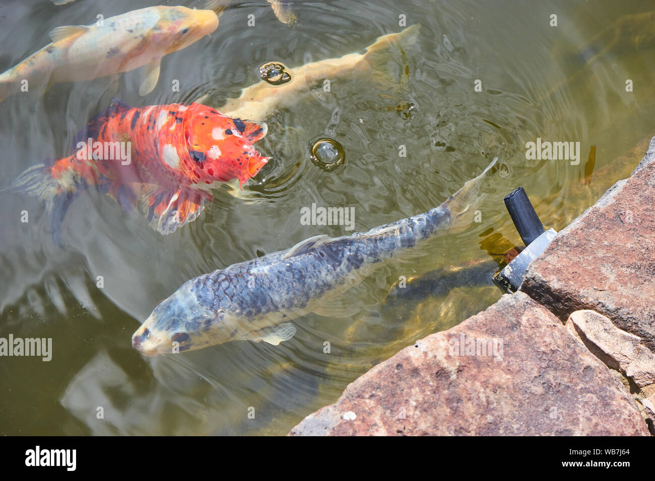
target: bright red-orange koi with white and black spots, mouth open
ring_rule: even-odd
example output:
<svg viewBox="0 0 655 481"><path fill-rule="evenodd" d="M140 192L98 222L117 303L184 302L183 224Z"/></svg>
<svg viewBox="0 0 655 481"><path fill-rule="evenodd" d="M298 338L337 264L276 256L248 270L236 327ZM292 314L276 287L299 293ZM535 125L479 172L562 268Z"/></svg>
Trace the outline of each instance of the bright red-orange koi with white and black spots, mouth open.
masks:
<svg viewBox="0 0 655 481"><path fill-rule="evenodd" d="M89 186L128 213L141 199L150 226L171 234L198 217L212 188L232 179L242 184L268 162L253 147L266 134L266 124L199 103L130 107L112 99L75 136L69 156L27 169L5 190L46 203L60 246L65 212Z"/></svg>

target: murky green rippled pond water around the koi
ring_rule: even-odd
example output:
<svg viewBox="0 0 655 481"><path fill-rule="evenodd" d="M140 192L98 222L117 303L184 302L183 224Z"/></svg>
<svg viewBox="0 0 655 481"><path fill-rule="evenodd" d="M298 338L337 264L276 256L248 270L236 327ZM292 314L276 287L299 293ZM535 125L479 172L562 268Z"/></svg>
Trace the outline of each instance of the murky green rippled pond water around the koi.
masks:
<svg viewBox="0 0 655 481"><path fill-rule="evenodd" d="M52 27L149 5L3 1L0 71L46 45ZM562 228L625 177L629 167L612 163L654 132L652 2L299 2L293 29L267 5L234 0L211 39L164 58L155 92L140 98L131 72L121 76L117 97L153 105L209 92L206 103L219 107L259 80L263 63L295 67L361 51L400 31L401 14L407 26L422 25L420 39L402 52L390 49L366 75L333 79L327 95L317 86L272 112L269 134L257 144L272 160L248 187L250 200L217 192L195 222L171 236L88 191L71 206L59 249L42 205L3 194L0 337L52 338L53 353L50 362L0 358L1 434L287 433L371 366L500 296L488 281L462 281L428 296L385 300L400 276L445 269L434 277L439 285L452 278L451 266L483 262L487 250L519 243L502 205L518 185L544 225ZM168 88L176 79L179 93ZM474 90L477 79L482 92ZM626 92L627 79L633 92ZM106 88L103 79L58 84L43 98L18 94L1 103L0 185L63 156L75 126L106 107ZM324 171L311 162L309 142L325 136L343 145L345 166ZM580 164L526 160L525 143L537 137L579 141ZM591 145L595 173L582 185ZM503 166L485 186L491 195L481 222L435 240L420 262L394 264L369 279L360 315L307 315L280 346L233 342L155 359L130 346L155 304L190 277L316 234L347 233L302 225L301 207L354 207L355 230L367 230L440 204L496 155ZM24 210L28 223L20 222Z"/></svg>

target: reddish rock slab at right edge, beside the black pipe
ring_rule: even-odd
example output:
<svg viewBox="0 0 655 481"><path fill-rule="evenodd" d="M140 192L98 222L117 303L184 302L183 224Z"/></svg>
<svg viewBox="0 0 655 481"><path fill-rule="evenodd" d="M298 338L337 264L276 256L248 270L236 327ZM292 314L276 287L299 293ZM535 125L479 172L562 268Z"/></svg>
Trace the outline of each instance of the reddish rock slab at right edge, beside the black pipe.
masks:
<svg viewBox="0 0 655 481"><path fill-rule="evenodd" d="M566 321L607 315L655 351L655 139L633 175L561 230L528 268L521 291Z"/></svg>

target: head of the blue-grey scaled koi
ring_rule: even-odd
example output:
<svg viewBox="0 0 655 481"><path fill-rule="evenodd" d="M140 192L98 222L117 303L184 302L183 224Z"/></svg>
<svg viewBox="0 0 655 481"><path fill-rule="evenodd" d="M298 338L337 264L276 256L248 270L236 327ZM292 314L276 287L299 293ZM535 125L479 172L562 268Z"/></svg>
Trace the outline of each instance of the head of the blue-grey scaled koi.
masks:
<svg viewBox="0 0 655 481"><path fill-rule="evenodd" d="M196 278L197 279L197 278ZM193 281L162 300L132 334L132 347L141 354L195 351L227 340L220 329L223 314L202 306L193 293Z"/></svg>

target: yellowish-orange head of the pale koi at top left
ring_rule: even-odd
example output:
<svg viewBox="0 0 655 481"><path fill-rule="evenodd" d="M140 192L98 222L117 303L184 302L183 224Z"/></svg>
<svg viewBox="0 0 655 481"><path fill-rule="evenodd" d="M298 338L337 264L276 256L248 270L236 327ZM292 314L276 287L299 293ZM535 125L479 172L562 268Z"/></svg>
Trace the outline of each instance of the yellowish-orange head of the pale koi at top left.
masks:
<svg viewBox="0 0 655 481"><path fill-rule="evenodd" d="M213 10L171 7L160 16L157 27L165 33L160 38L167 43L166 54L170 54L210 35L218 27L218 16Z"/></svg>

